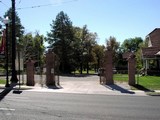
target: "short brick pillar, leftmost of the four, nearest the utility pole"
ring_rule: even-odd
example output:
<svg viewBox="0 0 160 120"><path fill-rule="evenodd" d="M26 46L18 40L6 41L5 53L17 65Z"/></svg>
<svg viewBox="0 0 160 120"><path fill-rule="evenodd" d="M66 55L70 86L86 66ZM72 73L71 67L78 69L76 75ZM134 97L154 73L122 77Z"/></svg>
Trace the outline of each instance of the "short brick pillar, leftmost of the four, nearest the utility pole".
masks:
<svg viewBox="0 0 160 120"><path fill-rule="evenodd" d="M27 85L34 86L34 62L29 59L27 61Z"/></svg>

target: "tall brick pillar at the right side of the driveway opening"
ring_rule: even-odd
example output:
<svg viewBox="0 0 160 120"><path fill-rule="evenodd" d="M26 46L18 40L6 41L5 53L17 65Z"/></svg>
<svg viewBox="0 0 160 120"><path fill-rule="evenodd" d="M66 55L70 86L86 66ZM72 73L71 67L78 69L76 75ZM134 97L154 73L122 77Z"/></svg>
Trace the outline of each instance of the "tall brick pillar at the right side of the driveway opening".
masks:
<svg viewBox="0 0 160 120"><path fill-rule="evenodd" d="M105 74L105 78L106 78L106 85L112 85L114 84L114 81L113 81L113 52L112 50L108 49L106 52L105 52L105 71L104 71L104 74Z"/></svg>

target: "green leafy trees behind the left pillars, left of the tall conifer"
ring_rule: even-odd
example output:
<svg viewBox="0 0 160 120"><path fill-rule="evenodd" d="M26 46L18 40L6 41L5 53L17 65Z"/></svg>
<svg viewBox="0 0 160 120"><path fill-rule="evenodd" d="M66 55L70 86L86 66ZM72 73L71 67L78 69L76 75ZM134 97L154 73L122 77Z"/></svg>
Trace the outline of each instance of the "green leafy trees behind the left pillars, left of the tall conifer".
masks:
<svg viewBox="0 0 160 120"><path fill-rule="evenodd" d="M24 62L31 58L34 60L35 67L41 67L44 63L43 55L44 55L44 37L43 35L39 35L39 33L36 33L36 35L33 37L31 33L28 33L23 36L23 44L22 49L24 52Z"/></svg>

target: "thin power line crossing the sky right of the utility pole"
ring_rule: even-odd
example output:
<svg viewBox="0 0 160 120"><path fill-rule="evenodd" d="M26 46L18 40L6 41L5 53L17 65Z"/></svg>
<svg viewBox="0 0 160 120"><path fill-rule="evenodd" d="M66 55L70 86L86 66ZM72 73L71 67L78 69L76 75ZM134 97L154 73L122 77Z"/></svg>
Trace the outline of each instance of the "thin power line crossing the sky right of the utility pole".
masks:
<svg viewBox="0 0 160 120"><path fill-rule="evenodd" d="M76 1L78 1L78 0L64 1L64 2L62 2L62 4L76 2ZM17 10L40 8L40 7L47 7L47 6L52 6L52 5L56 6L56 5L58 5L58 3L55 3L55 4L43 4L43 5L35 5L35 6L30 6L30 7L17 8Z"/></svg>

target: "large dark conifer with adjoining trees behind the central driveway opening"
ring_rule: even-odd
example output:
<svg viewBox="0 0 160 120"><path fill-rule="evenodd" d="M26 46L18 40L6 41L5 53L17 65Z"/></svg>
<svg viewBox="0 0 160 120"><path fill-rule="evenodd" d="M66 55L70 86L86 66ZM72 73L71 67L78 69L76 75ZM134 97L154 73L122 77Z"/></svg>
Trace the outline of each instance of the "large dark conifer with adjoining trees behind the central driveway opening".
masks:
<svg viewBox="0 0 160 120"><path fill-rule="evenodd" d="M89 32L87 25L83 28L72 26L63 11L58 13L50 26L46 41L60 58L60 71L71 73L80 68L82 72L83 67L88 73L89 63L94 61L92 48L96 44L97 34Z"/></svg>

